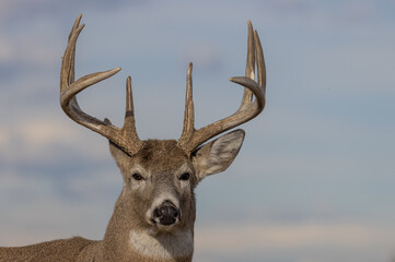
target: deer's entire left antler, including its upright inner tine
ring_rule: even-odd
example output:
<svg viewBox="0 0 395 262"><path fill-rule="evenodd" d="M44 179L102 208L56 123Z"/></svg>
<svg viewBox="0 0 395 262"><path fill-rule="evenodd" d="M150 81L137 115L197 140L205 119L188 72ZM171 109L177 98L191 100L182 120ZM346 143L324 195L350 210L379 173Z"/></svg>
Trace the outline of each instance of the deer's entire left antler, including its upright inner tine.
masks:
<svg viewBox="0 0 395 262"><path fill-rule="evenodd" d="M60 71L60 105L69 118L75 122L102 134L111 142L121 147L129 155L133 155L142 146L135 124L133 98L131 94L130 76L126 83L126 114L124 127L121 129L113 126L108 119L101 121L83 112L78 105L75 95L84 88L96 84L120 71L120 68L97 72L82 76L74 81L74 58L75 43L84 24L80 25L82 15L80 14L71 29L69 41L62 57Z"/></svg>

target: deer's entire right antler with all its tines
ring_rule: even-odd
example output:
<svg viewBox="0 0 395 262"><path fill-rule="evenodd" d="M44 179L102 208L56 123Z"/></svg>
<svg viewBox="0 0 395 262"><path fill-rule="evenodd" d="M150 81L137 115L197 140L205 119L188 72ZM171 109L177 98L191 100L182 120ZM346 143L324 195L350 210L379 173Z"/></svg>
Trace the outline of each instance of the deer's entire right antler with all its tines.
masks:
<svg viewBox="0 0 395 262"><path fill-rule="evenodd" d="M257 64L257 81L255 82L255 56ZM265 107L265 91L266 91L266 70L264 52L262 49L258 33L253 31L253 25L248 21L248 51L247 63L245 69L245 76L231 78L230 81L244 86L244 94L242 104L237 111L233 115L210 123L198 130L194 127L194 102L193 102L193 86L191 86L191 69L189 63L187 72L187 88L185 98L185 115L184 129L178 140L178 146L188 153L191 153L199 145L209 139L225 132L234 127L237 127L259 115ZM253 95L255 100L253 100Z"/></svg>

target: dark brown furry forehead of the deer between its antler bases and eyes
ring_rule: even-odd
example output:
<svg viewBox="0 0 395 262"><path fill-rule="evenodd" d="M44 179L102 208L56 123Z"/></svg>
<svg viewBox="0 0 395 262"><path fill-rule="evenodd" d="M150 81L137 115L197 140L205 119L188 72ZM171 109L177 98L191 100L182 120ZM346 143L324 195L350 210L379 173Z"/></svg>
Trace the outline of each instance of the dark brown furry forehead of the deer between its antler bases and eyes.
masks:
<svg viewBox="0 0 395 262"><path fill-rule="evenodd" d="M177 146L175 140L148 140L142 150L135 155L139 165L146 169L171 171L188 163L187 154Z"/></svg>

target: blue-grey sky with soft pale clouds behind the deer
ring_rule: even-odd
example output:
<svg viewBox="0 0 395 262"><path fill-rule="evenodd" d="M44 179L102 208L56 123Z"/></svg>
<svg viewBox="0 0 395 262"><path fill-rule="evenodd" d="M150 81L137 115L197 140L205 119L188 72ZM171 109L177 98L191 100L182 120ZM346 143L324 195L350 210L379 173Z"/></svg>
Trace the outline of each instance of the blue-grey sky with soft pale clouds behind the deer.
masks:
<svg viewBox="0 0 395 262"><path fill-rule="evenodd" d="M121 190L107 141L59 105L78 14L79 95L120 126L132 79L140 138L177 139L194 62L196 126L232 114L247 20L267 105L224 172L199 183L195 261L395 261L395 3L386 0L0 0L0 246L101 239Z"/></svg>

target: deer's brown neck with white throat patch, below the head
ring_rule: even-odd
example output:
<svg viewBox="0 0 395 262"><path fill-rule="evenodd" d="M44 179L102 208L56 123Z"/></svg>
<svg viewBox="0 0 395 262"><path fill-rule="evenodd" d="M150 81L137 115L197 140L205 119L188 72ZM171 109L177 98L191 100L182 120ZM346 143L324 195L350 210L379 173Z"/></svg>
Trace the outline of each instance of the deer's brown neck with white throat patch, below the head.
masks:
<svg viewBox="0 0 395 262"><path fill-rule="evenodd" d="M132 209L118 199L103 243L104 261L190 262L194 223L172 233L144 228Z"/></svg>

